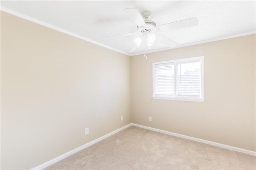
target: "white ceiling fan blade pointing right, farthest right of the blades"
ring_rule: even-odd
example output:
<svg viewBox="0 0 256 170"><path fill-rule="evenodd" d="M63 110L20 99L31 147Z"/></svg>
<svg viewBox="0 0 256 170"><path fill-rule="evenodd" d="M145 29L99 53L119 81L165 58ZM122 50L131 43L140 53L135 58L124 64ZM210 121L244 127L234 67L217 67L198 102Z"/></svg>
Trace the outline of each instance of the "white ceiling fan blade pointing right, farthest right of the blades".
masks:
<svg viewBox="0 0 256 170"><path fill-rule="evenodd" d="M171 22L168 24L163 24L163 25L157 26L157 28L160 28L162 31L162 29L174 30L174 29L186 28L186 27L192 27L192 26L198 26L198 20L196 17L188 18L188 19L180 20L176 22Z"/></svg>

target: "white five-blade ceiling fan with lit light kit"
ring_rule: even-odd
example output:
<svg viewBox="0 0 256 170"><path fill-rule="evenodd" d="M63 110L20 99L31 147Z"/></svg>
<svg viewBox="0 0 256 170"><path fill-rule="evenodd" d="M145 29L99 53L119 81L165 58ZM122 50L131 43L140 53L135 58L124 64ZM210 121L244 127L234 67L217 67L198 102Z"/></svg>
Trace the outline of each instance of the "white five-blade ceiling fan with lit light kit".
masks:
<svg viewBox="0 0 256 170"><path fill-rule="evenodd" d="M148 20L151 16L150 11L142 12L142 16L137 9L134 8L126 8L124 9L132 18L132 20L137 24L137 32L132 33L125 33L125 34L116 34L112 36L134 36L138 35L140 37L132 40L134 46L132 47L130 53L141 47L142 42L146 43L148 49L153 49L156 47L156 42L161 41L168 47L175 47L178 45L177 42L163 36L161 34L161 29L166 29L168 31L179 29L179 28L186 28L198 25L198 20L196 17L188 18L185 20L180 20L176 22L171 22L167 24L162 24L160 26L156 26L156 22ZM143 18L144 19L143 19ZM105 36L102 38L111 37Z"/></svg>

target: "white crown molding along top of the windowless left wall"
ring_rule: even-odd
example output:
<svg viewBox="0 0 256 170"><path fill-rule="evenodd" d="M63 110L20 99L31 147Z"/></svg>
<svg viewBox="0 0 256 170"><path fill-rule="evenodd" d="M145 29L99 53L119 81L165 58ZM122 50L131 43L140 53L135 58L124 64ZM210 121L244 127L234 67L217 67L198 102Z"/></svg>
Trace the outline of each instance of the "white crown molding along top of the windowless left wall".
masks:
<svg viewBox="0 0 256 170"><path fill-rule="evenodd" d="M32 18L32 17L30 17L30 16L26 16L26 15L24 15L24 14L21 14L21 13L19 13L19 12L14 11L14 10L10 10L9 8L0 6L0 10L3 11L3 12L7 12L7 13L9 13L9 14L12 14L12 15L14 15L14 16L18 16L18 17L23 18L23 19L25 19L25 20L29 20L29 21L35 22L35 23L40 24L40 25L42 25L42 26L46 26L46 27L48 27L48 28L52 28L52 29L57 30L57 31L59 31L59 32L68 34L68 35L70 35L70 36L73 36L73 37L76 37L76 38L80 38L80 39L85 40L85 41L87 41L87 42L94 43L94 44L96 44L96 45L100 45L100 46L102 46L102 47L105 47L105 48L111 49L111 50L113 50L113 51L117 51L117 52L119 52L119 53L122 53L122 54L129 55L129 56L130 56L129 53L126 53L126 52L121 51L121 50L119 50L119 49L115 49L115 48L113 48L113 47L109 47L108 45L105 45L105 44L96 42L96 41L91 40L91 39L89 39L89 38L80 36L80 35L78 35L78 34L75 34L75 33L73 33L73 32L64 30L64 29L59 28L59 27L56 27L56 26L53 26L53 25L51 25L51 24L48 24L48 23L43 22L43 21L41 21L41 20Z"/></svg>

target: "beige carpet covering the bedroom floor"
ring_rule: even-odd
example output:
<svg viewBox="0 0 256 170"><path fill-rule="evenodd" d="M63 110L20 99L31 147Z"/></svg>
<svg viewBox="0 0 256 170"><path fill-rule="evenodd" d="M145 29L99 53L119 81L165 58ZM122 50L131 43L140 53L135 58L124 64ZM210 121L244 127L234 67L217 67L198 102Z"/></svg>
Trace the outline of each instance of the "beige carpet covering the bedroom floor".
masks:
<svg viewBox="0 0 256 170"><path fill-rule="evenodd" d="M256 169L255 158L132 126L46 170Z"/></svg>

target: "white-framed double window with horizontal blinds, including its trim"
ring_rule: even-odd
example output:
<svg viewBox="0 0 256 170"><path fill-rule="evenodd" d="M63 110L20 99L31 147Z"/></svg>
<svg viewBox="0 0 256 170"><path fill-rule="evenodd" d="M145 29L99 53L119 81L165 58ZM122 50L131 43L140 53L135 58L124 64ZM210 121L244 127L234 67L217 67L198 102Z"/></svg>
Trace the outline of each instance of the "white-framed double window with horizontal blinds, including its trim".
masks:
<svg viewBox="0 0 256 170"><path fill-rule="evenodd" d="M153 98L204 101L204 56L153 63Z"/></svg>

